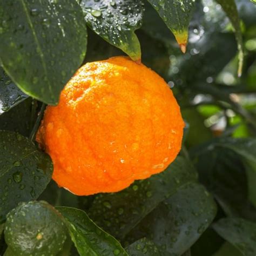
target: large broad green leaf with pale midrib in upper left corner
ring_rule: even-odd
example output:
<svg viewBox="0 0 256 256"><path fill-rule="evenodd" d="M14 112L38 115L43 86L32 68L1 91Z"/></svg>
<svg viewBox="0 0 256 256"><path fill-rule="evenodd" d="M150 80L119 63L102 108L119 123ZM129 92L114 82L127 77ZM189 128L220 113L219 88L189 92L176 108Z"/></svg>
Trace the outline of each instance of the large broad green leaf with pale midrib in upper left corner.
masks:
<svg viewBox="0 0 256 256"><path fill-rule="evenodd" d="M57 104L86 51L86 25L77 1L0 0L0 24L6 73L27 95Z"/></svg>

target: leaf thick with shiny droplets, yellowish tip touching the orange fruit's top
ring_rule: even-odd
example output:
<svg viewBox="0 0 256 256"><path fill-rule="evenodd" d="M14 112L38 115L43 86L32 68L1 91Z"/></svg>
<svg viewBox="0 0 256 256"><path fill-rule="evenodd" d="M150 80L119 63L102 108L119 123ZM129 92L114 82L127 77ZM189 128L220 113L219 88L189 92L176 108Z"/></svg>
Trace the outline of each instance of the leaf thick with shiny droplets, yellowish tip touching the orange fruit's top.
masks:
<svg viewBox="0 0 256 256"><path fill-rule="evenodd" d="M140 45L134 30L142 25L141 0L82 0L85 21L110 44L123 50L133 60L140 60Z"/></svg>

